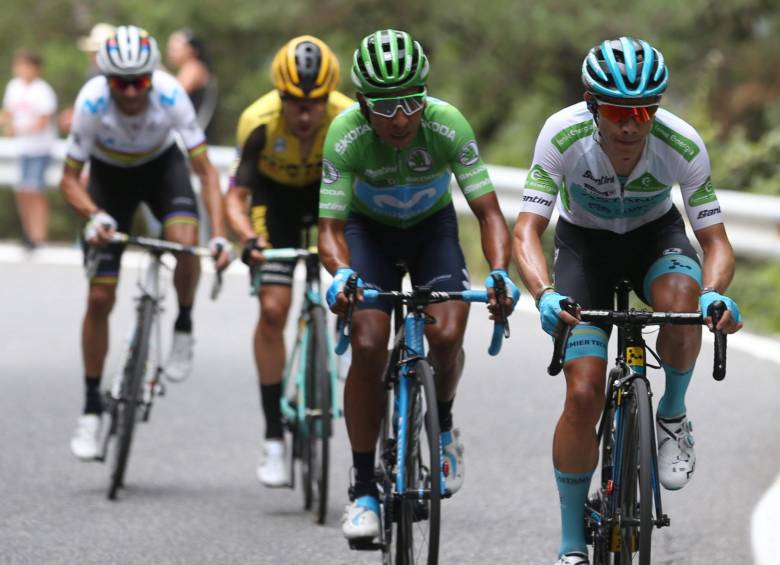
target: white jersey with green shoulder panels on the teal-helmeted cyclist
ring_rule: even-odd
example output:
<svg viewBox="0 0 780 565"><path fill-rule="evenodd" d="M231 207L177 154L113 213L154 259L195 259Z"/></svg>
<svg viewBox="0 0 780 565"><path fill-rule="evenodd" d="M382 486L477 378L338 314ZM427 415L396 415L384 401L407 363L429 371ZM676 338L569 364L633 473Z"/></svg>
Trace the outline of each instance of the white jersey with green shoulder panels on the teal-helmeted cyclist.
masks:
<svg viewBox="0 0 780 565"><path fill-rule="evenodd" d="M639 161L622 179L598 136L585 102L550 116L536 140L521 212L549 218L560 195L566 221L622 234L668 212L679 184L694 230L722 223L707 149L687 122L659 109Z"/></svg>

